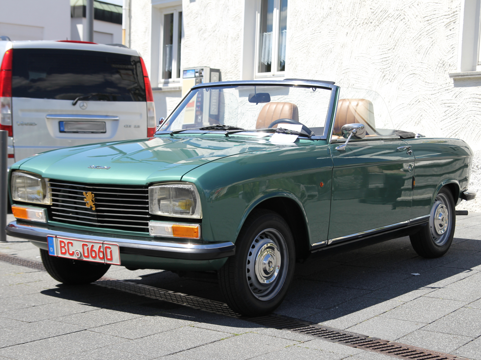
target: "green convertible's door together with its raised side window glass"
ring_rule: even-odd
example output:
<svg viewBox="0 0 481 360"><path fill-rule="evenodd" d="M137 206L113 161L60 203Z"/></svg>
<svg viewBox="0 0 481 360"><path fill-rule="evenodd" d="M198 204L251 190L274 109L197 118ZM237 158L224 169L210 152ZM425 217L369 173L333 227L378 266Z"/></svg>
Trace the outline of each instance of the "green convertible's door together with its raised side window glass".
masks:
<svg viewBox="0 0 481 360"><path fill-rule="evenodd" d="M352 123L365 125L366 136L337 150L346 140L342 126ZM379 94L341 88L329 144L334 166L329 243L411 218L415 157L392 129Z"/></svg>

